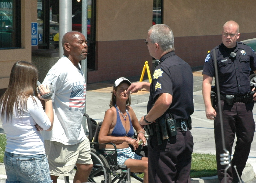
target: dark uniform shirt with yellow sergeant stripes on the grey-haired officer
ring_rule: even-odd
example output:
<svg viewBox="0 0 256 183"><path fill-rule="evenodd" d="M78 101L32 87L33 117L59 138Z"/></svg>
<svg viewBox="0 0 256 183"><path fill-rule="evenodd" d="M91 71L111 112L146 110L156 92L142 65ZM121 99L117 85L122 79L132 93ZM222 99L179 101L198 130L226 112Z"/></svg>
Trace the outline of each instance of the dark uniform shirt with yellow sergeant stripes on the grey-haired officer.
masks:
<svg viewBox="0 0 256 183"><path fill-rule="evenodd" d="M188 63L171 51L160 59L154 69L150 85L148 112L159 97L159 94L172 95L169 111L175 119L186 120L194 112L193 103L193 74Z"/></svg>

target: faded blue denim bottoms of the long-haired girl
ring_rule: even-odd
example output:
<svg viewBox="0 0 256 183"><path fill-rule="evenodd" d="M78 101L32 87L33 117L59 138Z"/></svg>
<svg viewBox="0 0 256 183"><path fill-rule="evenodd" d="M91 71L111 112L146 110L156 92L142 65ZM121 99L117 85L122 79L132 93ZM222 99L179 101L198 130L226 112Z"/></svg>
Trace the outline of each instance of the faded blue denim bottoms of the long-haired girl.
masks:
<svg viewBox="0 0 256 183"><path fill-rule="evenodd" d="M52 183L45 154L23 155L5 152L6 183Z"/></svg>

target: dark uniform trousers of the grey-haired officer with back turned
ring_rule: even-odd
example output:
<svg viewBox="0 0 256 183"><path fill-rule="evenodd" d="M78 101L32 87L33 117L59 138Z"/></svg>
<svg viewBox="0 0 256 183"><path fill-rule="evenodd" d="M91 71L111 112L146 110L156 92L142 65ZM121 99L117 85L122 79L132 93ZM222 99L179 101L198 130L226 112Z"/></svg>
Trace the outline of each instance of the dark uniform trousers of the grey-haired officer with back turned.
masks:
<svg viewBox="0 0 256 183"><path fill-rule="evenodd" d="M151 183L191 183L189 176L193 152L191 132L177 130L177 135L157 143L156 136L148 139L148 180Z"/></svg>

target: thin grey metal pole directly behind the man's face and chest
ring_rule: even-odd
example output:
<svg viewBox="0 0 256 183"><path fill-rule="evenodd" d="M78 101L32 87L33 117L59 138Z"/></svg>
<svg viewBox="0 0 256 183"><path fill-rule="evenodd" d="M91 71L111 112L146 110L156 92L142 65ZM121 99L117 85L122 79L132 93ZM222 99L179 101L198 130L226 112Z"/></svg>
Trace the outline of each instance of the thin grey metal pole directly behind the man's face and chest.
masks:
<svg viewBox="0 0 256 183"><path fill-rule="evenodd" d="M87 40L87 0L82 0L82 34ZM84 80L87 82L87 59L81 60L81 69L84 73ZM86 96L85 96L85 106L84 113L86 113ZM85 134L89 134L88 126L86 123L86 118L83 118L83 127Z"/></svg>

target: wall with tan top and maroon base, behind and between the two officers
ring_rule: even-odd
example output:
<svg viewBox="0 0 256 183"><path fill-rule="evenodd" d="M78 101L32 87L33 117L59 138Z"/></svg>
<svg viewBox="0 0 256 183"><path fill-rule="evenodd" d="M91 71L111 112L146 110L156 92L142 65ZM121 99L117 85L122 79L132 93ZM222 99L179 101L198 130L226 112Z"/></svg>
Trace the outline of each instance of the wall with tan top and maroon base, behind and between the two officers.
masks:
<svg viewBox="0 0 256 183"><path fill-rule="evenodd" d="M203 66L207 51L221 44L224 23L239 23L238 41L256 37L256 1L164 0L163 23L175 37L175 53L190 66Z"/></svg>

